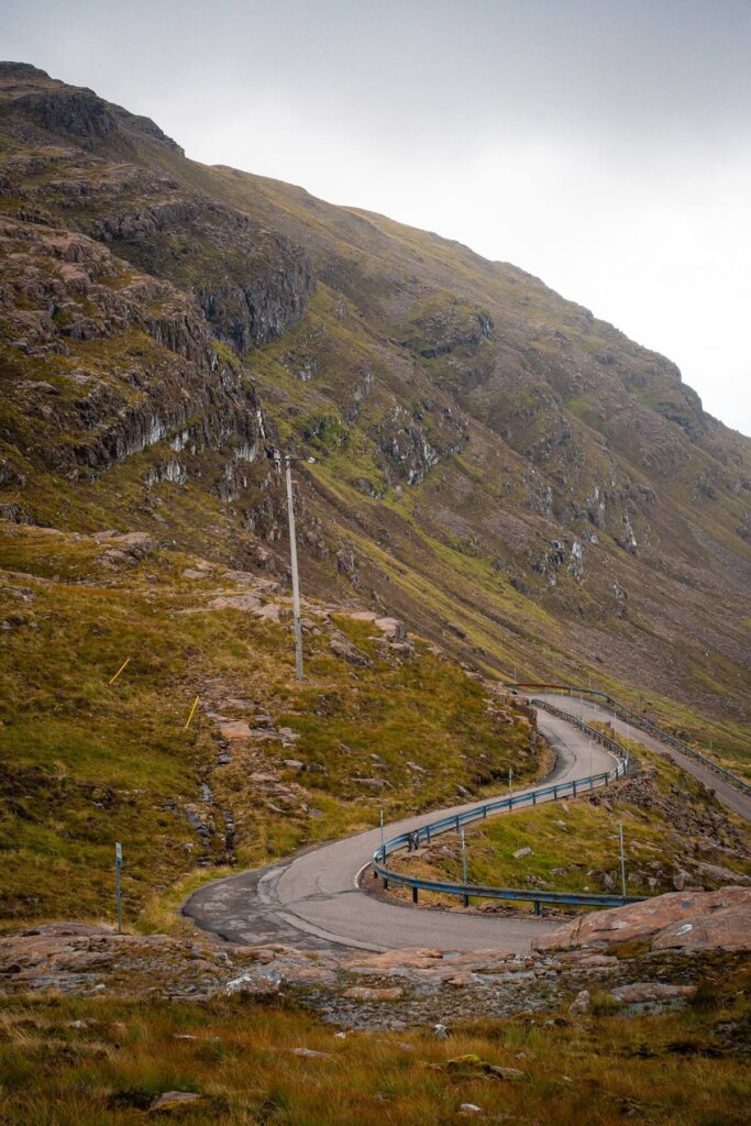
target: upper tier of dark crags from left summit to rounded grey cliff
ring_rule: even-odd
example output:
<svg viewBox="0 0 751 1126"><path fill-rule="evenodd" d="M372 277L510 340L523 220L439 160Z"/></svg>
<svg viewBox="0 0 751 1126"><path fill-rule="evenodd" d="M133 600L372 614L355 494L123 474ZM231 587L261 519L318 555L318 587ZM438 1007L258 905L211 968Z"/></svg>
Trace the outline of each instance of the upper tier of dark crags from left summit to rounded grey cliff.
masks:
<svg viewBox="0 0 751 1126"><path fill-rule="evenodd" d="M61 207L140 270L195 294L214 334L240 354L305 316L315 279L301 247L158 167L129 163L144 141L182 155L153 122L16 64L0 66L0 120L24 140L30 125L42 145L30 162L0 166L9 194L34 206L34 177L54 169L47 208ZM75 148L51 145L61 138Z"/></svg>

